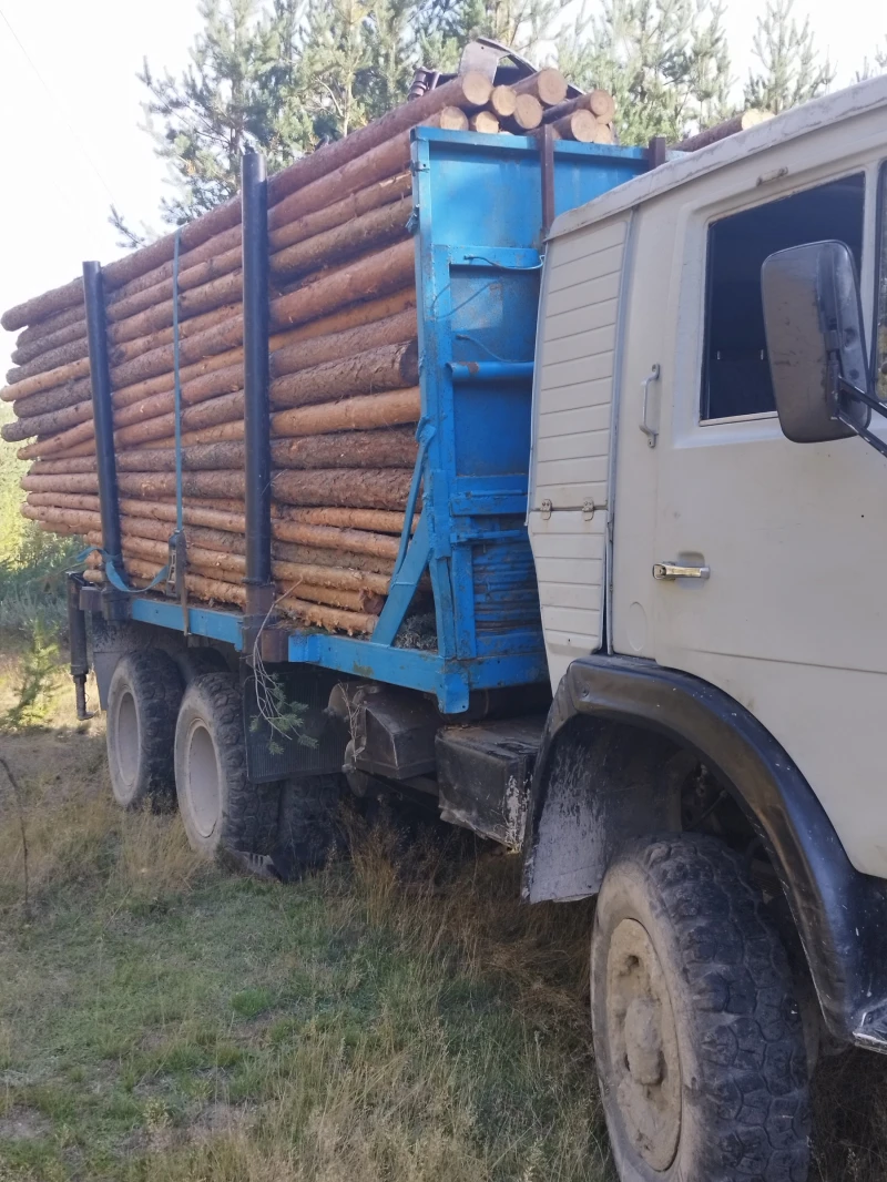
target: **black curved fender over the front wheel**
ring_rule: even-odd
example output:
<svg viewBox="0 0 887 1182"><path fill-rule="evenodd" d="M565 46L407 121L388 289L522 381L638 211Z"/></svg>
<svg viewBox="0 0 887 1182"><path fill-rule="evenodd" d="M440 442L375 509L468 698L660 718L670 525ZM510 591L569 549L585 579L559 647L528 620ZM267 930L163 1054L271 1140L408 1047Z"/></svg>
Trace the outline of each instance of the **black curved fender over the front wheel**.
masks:
<svg viewBox="0 0 887 1182"><path fill-rule="evenodd" d="M624 754L608 766L614 725L641 728L633 756L640 774ZM578 761L577 741L585 753ZM850 864L812 788L762 723L689 674L630 657L572 662L555 695L533 777L524 897L594 895L617 844L680 827L669 816L673 793L661 782L661 760L674 761L675 752L705 762L763 840L829 1031L887 1050L887 882ZM643 774L645 765L656 759L659 784L650 790L654 778Z"/></svg>

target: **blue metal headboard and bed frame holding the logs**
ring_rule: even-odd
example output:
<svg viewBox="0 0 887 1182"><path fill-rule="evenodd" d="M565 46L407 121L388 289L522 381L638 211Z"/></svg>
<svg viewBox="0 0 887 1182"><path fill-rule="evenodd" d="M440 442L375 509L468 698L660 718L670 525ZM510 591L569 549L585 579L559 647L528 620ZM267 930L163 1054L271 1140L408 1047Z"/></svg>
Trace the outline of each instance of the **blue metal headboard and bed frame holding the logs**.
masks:
<svg viewBox="0 0 887 1182"><path fill-rule="evenodd" d="M645 149L552 147L556 214L649 167ZM545 177L535 138L433 128L413 131L412 169L422 410L400 556L370 639L299 629L287 656L433 693L459 714L472 690L548 678L525 527ZM395 643L426 572L436 651ZM130 616L183 631L181 606L156 596L134 597ZM188 612L190 632L239 651L242 622Z"/></svg>

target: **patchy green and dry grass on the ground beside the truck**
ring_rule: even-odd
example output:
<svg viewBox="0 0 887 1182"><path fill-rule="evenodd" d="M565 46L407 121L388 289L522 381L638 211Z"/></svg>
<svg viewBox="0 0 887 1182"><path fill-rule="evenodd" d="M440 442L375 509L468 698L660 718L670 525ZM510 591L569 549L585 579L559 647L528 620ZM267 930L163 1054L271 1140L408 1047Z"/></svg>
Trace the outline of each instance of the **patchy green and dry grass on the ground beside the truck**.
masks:
<svg viewBox="0 0 887 1182"><path fill-rule="evenodd" d="M0 740L31 879L26 911L0 779L2 1182L613 1182L589 905L522 908L517 859L404 863L384 829L297 885L226 877L110 804L64 682ZM887 1177L886 1095L880 1059L826 1063L814 1180Z"/></svg>

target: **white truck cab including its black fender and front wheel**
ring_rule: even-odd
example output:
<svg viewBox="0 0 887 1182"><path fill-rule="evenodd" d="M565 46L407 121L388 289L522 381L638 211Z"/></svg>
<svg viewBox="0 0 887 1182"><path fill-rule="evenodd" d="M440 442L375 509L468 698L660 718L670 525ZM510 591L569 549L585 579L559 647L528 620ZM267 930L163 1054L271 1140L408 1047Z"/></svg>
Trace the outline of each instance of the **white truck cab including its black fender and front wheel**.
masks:
<svg viewBox="0 0 887 1182"><path fill-rule="evenodd" d="M821 1020L887 1048L885 196L879 78L551 229L529 527L555 707L526 895L598 894L623 1178L805 1176L797 1041L766 1032L762 965L736 975L760 916L731 929L716 842L788 946L808 1050ZM700 1108L706 1079L730 1100Z"/></svg>

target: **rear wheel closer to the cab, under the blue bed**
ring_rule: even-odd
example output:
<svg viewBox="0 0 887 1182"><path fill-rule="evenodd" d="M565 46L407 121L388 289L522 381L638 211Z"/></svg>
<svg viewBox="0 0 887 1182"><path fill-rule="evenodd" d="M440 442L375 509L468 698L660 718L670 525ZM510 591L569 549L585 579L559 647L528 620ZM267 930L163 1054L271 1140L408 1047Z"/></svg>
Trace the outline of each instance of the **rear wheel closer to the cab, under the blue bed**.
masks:
<svg viewBox="0 0 887 1182"><path fill-rule="evenodd" d="M267 852L277 831L278 785L251 784L240 689L231 673L188 686L175 729L175 786L192 849Z"/></svg>

